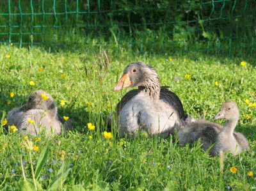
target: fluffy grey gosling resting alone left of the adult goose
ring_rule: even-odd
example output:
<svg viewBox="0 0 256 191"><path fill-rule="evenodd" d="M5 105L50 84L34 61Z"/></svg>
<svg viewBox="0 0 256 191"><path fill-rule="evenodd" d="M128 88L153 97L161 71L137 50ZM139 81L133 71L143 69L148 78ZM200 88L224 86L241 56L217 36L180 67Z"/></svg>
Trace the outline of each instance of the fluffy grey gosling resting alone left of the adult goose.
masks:
<svg viewBox="0 0 256 191"><path fill-rule="evenodd" d="M43 100L42 95L47 96L48 99ZM29 123L29 118L34 123ZM61 118L57 113L57 105L52 96L41 89L29 95L27 105L8 112L6 119L8 125L17 127L20 135L36 135L43 129L47 135L60 134L61 127L64 127L65 130L72 127L72 120L65 121Z"/></svg>

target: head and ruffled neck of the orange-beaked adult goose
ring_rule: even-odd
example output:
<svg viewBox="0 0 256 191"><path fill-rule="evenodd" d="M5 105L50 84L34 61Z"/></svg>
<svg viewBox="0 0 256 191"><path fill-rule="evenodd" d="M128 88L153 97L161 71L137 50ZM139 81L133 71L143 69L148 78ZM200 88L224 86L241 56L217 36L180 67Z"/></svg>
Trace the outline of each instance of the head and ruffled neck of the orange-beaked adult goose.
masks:
<svg viewBox="0 0 256 191"><path fill-rule="evenodd" d="M116 84L114 91L122 88L131 88L138 86L139 89L160 92L160 78L156 70L150 65L138 61L127 65L124 73Z"/></svg>

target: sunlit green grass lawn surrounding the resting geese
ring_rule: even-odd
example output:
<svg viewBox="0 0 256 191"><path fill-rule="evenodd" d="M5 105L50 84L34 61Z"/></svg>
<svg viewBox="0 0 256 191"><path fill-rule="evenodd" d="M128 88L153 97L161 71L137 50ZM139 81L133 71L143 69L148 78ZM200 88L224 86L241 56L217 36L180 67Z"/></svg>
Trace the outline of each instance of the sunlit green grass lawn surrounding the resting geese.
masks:
<svg viewBox="0 0 256 191"><path fill-rule="evenodd" d="M35 142L35 137L29 137L39 147L38 151L31 152L33 162L38 162L40 153L49 144L49 153L38 178L38 184L45 190L51 187L60 172L68 168L70 171L67 178L63 178L63 185L56 185L58 189L228 190L228 186L234 184L233 190L256 188L256 111L255 107L248 107L244 102L247 98L251 103L256 102L255 59L205 57L203 54L136 56L129 52L124 52L120 59L121 54L112 52L111 62L106 67L95 62L95 55L89 51L49 53L36 47L31 51L17 47L9 50L6 45L2 45L0 51L0 112L26 104L31 92L44 89L56 101L59 114L74 120L74 129L67 134L51 139L40 135L38 142ZM156 136L147 139L143 135L134 140L118 139L115 128L113 137L105 139L103 132L107 125L104 119L115 111L120 98L131 90L114 93L113 87L125 66L133 61L143 61L156 68L162 86L170 86L182 100L186 112L195 118L212 121L222 102L237 102L240 118L236 131L248 138L251 150L236 157L225 154L222 172L219 157L210 158L198 144L182 148L175 139ZM246 66L241 66L241 61L246 61ZM42 72L38 71L39 67ZM61 77L62 73L67 75L65 79ZM188 74L189 79L185 79ZM174 77L184 79L175 81ZM35 86L29 85L30 80ZM216 81L219 86L214 85ZM64 106L61 106L61 100L65 100ZM88 130L89 122L96 126L95 130ZM223 124L224 121L217 122ZM90 135L92 139L89 139ZM5 131L0 136L0 189L21 190L24 178L20 156L26 161L25 176L32 180L29 153L20 147L23 137L17 132L10 134ZM66 153L66 167L62 170L60 151ZM237 168L234 174L230 172L232 166ZM36 164L34 171L35 167ZM250 171L253 176L246 175Z"/></svg>

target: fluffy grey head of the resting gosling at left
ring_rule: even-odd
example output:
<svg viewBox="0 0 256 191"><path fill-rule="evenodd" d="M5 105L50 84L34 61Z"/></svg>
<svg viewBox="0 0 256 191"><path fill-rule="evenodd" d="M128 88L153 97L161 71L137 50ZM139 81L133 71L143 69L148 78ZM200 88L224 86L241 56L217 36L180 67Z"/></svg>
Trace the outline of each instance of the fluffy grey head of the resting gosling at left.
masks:
<svg viewBox="0 0 256 191"><path fill-rule="evenodd" d="M42 95L49 96L47 100L43 100ZM27 111L29 109L43 109L47 111L52 118L57 115L57 105L54 99L48 93L45 93L42 89L36 90L28 98Z"/></svg>

